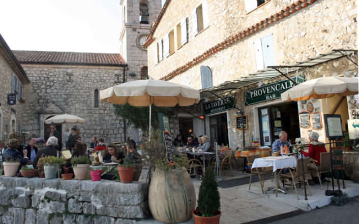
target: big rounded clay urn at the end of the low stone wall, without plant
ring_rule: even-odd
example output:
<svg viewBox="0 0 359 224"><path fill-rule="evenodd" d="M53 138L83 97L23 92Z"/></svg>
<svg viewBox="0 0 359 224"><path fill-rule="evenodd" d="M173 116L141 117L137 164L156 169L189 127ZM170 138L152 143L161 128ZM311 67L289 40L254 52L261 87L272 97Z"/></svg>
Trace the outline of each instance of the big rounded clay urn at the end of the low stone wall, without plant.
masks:
<svg viewBox="0 0 359 224"><path fill-rule="evenodd" d="M196 206L196 192L187 171L156 169L148 189L148 205L160 222L189 220Z"/></svg>

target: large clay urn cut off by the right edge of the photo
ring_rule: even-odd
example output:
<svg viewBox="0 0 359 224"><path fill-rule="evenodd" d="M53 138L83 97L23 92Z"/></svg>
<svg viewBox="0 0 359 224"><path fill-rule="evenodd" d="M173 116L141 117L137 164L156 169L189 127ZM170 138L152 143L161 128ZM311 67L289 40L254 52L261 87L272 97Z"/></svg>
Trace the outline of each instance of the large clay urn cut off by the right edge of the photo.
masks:
<svg viewBox="0 0 359 224"><path fill-rule="evenodd" d="M359 183L359 152L343 152L343 164L346 175L355 183Z"/></svg>

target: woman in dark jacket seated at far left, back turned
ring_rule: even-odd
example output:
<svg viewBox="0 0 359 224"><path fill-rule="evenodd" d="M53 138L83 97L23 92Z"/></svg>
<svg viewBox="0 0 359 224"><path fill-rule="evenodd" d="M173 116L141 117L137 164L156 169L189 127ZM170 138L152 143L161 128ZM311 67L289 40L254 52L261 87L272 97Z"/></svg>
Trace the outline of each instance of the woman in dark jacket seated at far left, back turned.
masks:
<svg viewBox="0 0 359 224"><path fill-rule="evenodd" d="M21 176L20 169L22 168L22 166L27 165L28 157L27 156L22 157L21 153L19 151L17 151L17 148L19 147L19 141L17 139L10 139L8 141L8 146L9 146L9 148L5 149L3 157L4 157L5 161L11 161L14 159L19 160L20 166L17 169L16 173L18 176ZM27 155L27 150L24 149L22 151L22 154Z"/></svg>

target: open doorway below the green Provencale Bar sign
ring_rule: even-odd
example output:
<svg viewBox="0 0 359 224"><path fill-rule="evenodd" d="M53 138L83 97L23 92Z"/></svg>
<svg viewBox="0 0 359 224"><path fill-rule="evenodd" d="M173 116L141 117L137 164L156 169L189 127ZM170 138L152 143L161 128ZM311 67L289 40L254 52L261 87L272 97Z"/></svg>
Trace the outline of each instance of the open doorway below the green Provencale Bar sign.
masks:
<svg viewBox="0 0 359 224"><path fill-rule="evenodd" d="M261 145L272 146L281 131L288 134L291 142L301 137L297 102L262 107L258 114Z"/></svg>

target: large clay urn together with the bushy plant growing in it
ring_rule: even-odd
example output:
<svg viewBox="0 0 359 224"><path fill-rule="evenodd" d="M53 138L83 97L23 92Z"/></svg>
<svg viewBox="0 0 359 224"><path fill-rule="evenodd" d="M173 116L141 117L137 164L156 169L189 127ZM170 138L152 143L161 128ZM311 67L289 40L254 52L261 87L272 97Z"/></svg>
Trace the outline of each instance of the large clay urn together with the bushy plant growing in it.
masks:
<svg viewBox="0 0 359 224"><path fill-rule="evenodd" d="M142 158L153 172L148 189L148 207L156 220L180 223L192 218L196 192L184 168L186 158L176 157L175 163L169 164L162 136L161 131L152 132L151 142L146 142L142 148Z"/></svg>

